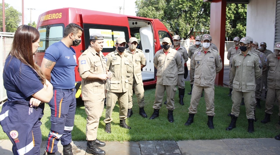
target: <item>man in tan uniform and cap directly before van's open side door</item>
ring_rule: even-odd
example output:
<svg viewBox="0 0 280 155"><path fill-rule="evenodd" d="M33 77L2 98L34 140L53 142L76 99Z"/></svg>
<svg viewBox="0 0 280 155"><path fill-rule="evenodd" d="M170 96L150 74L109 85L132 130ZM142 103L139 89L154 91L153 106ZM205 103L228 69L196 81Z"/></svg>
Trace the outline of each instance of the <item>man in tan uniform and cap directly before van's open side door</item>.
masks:
<svg viewBox="0 0 280 155"><path fill-rule="evenodd" d="M130 70L128 72L128 113L127 117L131 117L132 112L132 95L133 88L137 97L137 103L139 106L139 114L147 118L147 114L144 110L144 87L142 82L141 69L147 65L146 57L143 51L136 48L138 45L137 38L131 37L128 41L128 47L124 53L129 55L130 59Z"/></svg>

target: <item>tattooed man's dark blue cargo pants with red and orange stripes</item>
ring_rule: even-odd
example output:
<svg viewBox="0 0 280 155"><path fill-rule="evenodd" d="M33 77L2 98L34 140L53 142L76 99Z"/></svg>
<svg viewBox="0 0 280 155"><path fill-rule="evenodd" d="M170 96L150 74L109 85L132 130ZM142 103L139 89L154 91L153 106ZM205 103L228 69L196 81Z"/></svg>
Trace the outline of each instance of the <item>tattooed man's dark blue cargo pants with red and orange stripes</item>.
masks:
<svg viewBox="0 0 280 155"><path fill-rule="evenodd" d="M58 141L63 146L72 141L71 131L74 126L76 111L76 89L56 89L54 88L54 97L49 102L51 109L51 129L47 139L46 150L49 153L55 153L58 148Z"/></svg>

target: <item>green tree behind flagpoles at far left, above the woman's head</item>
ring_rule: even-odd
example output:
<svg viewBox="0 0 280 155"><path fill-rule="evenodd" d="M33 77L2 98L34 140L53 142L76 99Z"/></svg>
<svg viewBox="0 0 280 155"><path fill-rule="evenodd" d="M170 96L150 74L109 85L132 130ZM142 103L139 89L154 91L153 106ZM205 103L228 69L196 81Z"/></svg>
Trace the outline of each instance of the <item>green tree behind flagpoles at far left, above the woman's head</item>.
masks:
<svg viewBox="0 0 280 155"><path fill-rule="evenodd" d="M3 32L3 12L2 3L0 4L0 31ZM18 25L21 22L21 13L15 8L10 7L9 4L5 3L5 24L6 32L16 32Z"/></svg>

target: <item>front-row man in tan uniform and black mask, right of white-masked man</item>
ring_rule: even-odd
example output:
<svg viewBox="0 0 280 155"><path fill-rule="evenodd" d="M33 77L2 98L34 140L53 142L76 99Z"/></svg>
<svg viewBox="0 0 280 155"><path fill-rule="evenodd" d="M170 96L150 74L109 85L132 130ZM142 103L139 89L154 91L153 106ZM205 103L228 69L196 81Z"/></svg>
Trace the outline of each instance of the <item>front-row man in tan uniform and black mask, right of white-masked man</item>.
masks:
<svg viewBox="0 0 280 155"><path fill-rule="evenodd" d="M249 38L241 38L239 47L241 52L234 55L231 61L231 71L235 76L231 96L233 105L231 109L231 123L226 130L232 130L236 127L243 95L246 117L248 119L248 132L254 132L255 83L256 79L261 77L262 63L258 55L249 50L250 46Z"/></svg>

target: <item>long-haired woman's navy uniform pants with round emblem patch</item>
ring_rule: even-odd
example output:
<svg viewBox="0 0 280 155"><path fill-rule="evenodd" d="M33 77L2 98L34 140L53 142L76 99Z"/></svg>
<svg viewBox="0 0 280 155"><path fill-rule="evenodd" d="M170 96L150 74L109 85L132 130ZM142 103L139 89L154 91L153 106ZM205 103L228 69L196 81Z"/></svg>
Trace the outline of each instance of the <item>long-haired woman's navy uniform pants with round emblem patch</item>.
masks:
<svg viewBox="0 0 280 155"><path fill-rule="evenodd" d="M42 143L41 118L44 104L29 107L27 101L8 101L3 104L0 124L11 140L15 155L40 155Z"/></svg>

